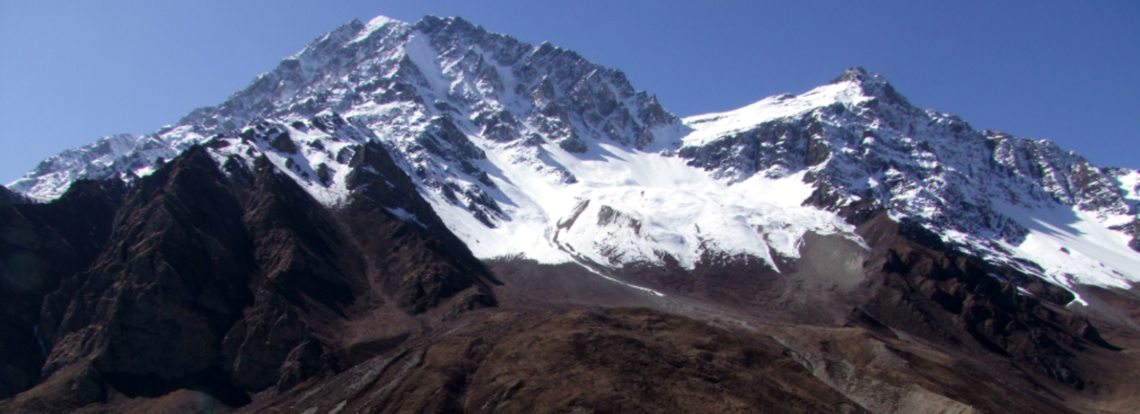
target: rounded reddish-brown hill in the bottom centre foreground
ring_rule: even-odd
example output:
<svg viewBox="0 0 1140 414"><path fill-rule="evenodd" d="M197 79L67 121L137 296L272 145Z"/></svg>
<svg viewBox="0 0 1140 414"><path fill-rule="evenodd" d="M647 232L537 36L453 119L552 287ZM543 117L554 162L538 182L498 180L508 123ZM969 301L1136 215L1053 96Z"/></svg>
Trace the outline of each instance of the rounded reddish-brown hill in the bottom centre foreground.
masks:
<svg viewBox="0 0 1140 414"><path fill-rule="evenodd" d="M644 308L487 309L243 413L865 413L775 340Z"/></svg>

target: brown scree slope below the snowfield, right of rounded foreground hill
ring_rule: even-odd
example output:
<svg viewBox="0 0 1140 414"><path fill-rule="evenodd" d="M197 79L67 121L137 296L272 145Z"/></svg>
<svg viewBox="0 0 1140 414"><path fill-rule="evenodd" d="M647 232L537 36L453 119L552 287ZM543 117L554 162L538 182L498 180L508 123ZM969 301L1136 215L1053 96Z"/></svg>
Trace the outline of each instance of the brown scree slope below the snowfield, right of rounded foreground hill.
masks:
<svg viewBox="0 0 1140 414"><path fill-rule="evenodd" d="M930 243L886 214L868 217L860 233L871 250L812 235L781 272L707 259L693 271L613 274L665 298L526 260L495 263L506 283L499 297L528 308L637 304L764 332L872 412L1129 412L1121 407L1137 403L1134 328L1042 300L1072 296L1004 270L1031 293L1019 292L991 276L1002 268ZM1121 307L1132 296L1110 300Z"/></svg>

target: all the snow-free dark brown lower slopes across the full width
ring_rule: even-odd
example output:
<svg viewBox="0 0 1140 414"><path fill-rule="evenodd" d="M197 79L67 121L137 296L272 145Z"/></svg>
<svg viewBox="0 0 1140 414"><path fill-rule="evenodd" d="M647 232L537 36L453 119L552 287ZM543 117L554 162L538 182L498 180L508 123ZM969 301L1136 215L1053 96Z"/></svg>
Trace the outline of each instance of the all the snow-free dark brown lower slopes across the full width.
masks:
<svg viewBox="0 0 1140 414"><path fill-rule="evenodd" d="M1135 290L1065 307L876 210L848 217L870 249L808 234L779 271L479 262L382 148L361 154L378 175L337 210L193 149L131 188L0 207L0 412L1140 407Z"/></svg>

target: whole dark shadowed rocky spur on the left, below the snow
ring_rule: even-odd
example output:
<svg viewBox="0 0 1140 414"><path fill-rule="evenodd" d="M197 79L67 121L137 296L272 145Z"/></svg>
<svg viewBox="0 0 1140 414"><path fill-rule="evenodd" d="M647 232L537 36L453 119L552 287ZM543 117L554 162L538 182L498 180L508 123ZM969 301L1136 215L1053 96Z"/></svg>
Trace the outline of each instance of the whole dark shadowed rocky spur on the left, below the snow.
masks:
<svg viewBox="0 0 1140 414"><path fill-rule="evenodd" d="M410 182L393 168L361 184L388 192L363 190L336 213L263 159L238 183L195 147L129 192L81 181L51 204L3 206L5 396L63 375L127 396L195 389L242 405L247 391L335 371L333 353L358 340L341 329L361 317L389 315L399 333L453 297L456 309L494 306L487 270L400 191ZM434 226L374 199L418 201L408 210ZM68 404L105 395L90 397Z"/></svg>

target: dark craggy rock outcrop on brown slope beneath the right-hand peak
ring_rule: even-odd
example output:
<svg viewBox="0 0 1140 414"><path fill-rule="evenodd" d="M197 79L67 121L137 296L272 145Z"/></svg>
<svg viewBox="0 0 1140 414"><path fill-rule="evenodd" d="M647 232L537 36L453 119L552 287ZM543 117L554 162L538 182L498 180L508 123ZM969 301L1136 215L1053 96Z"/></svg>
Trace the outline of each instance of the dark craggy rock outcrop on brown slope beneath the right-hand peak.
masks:
<svg viewBox="0 0 1140 414"><path fill-rule="evenodd" d="M1100 337L1086 317L1061 310L1067 291L1005 268L997 271L976 257L922 246L886 215L861 225L878 255L866 262L871 283L881 285L860 304L874 320L947 347L974 348L1008 357L1026 371L1077 390L1096 387L1078 355L1089 348L1119 350ZM911 230L913 231L913 230ZM935 239L937 240L937 239ZM1033 289L1018 292L1018 285Z"/></svg>

